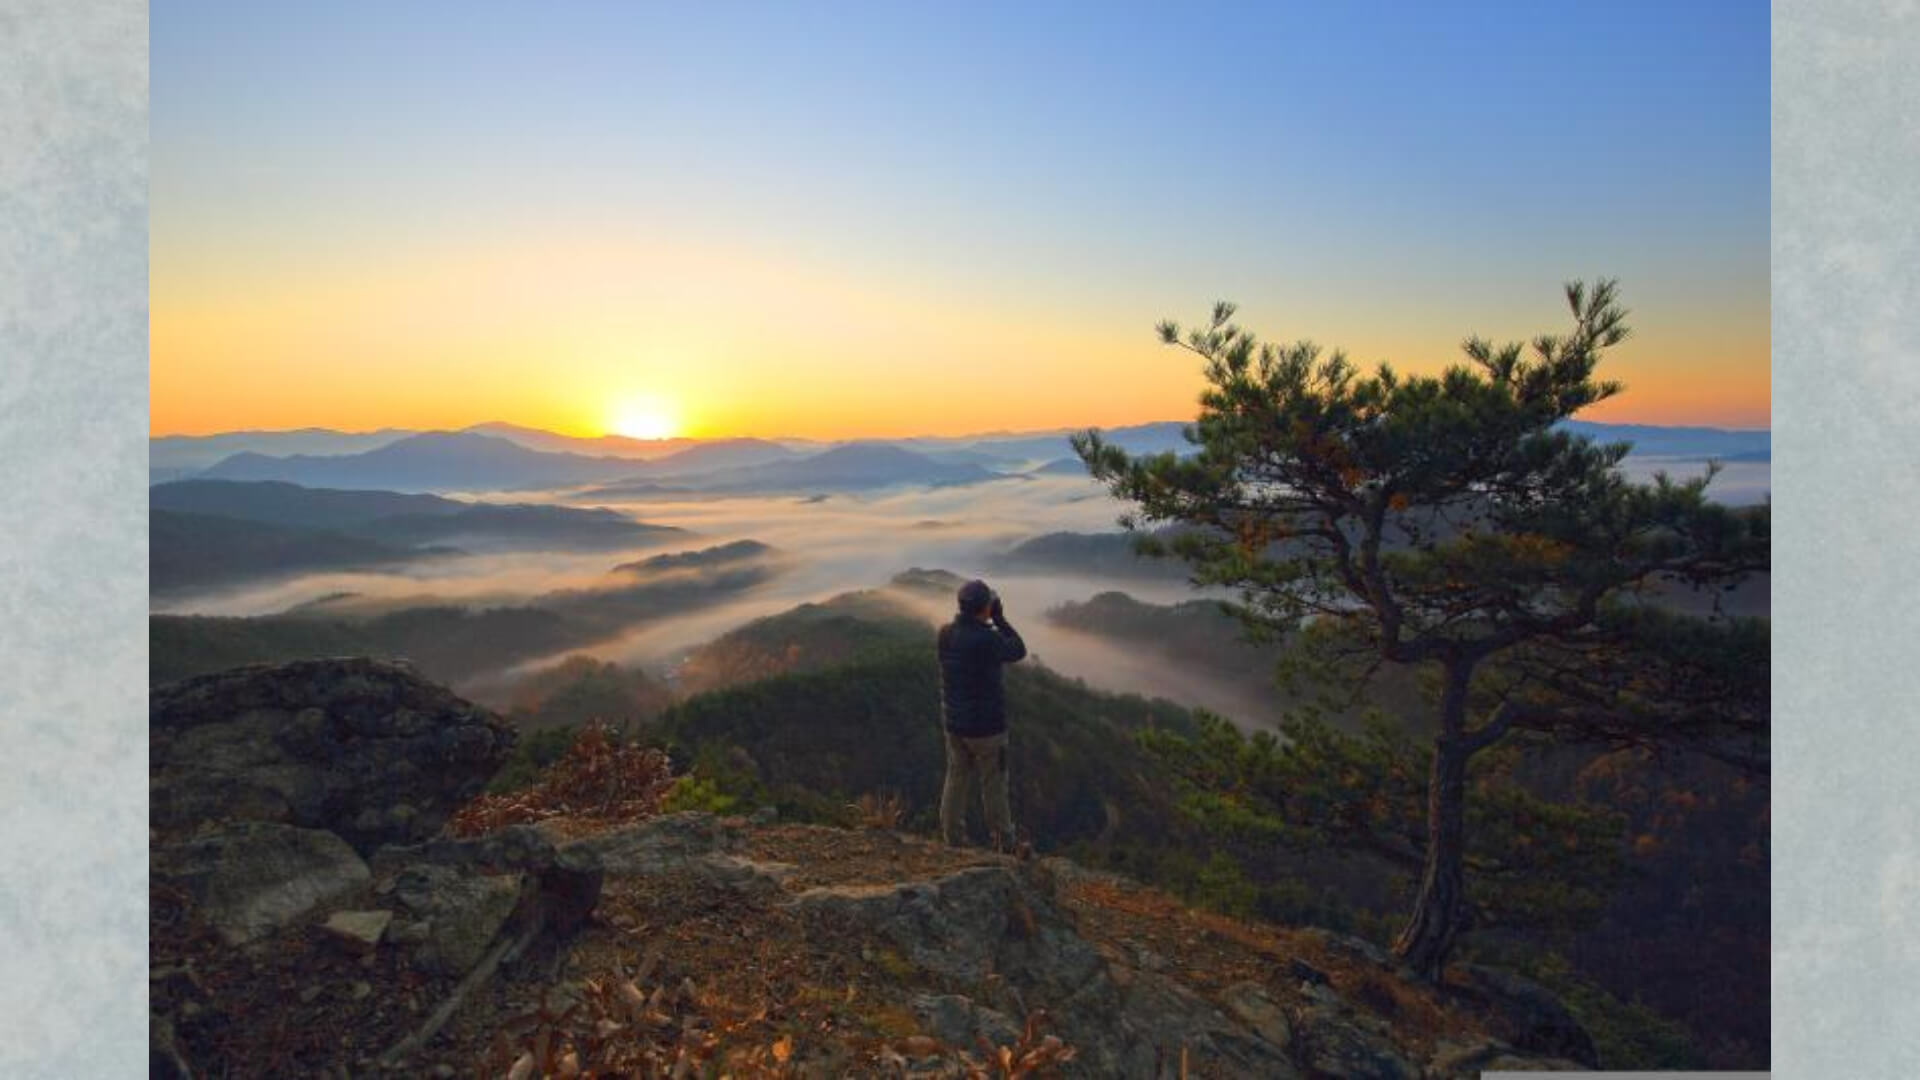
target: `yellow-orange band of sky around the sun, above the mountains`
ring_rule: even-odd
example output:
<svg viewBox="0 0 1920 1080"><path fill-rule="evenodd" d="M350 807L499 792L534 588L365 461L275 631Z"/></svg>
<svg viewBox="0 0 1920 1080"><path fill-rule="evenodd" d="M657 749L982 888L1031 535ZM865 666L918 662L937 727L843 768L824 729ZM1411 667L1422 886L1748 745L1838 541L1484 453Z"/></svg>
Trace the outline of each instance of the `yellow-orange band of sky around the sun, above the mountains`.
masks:
<svg viewBox="0 0 1920 1080"><path fill-rule="evenodd" d="M493 238L499 242L501 238ZM1187 419L1198 361L1160 346L1150 300L1023 302L856 277L753 250L607 238L303 259L248 275L156 231L152 434L457 429L603 434L664 413L695 436L906 436ZM1432 371L1467 332L1563 329L1557 282L1511 309L1306 309L1240 298L1258 332ZM1703 325L1632 304L1586 419L1766 427L1766 309ZM1292 307L1292 309L1290 309ZM1290 325L1279 327L1281 317ZM1475 317L1478 315L1478 317Z"/></svg>

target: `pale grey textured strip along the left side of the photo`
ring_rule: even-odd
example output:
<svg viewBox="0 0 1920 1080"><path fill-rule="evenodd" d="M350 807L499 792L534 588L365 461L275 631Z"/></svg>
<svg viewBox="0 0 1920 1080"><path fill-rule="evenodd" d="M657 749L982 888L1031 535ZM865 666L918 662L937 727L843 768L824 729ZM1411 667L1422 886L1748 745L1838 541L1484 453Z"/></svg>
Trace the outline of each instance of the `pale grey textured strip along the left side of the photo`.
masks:
<svg viewBox="0 0 1920 1080"><path fill-rule="evenodd" d="M146 4L0 0L0 1076L146 1072Z"/></svg>

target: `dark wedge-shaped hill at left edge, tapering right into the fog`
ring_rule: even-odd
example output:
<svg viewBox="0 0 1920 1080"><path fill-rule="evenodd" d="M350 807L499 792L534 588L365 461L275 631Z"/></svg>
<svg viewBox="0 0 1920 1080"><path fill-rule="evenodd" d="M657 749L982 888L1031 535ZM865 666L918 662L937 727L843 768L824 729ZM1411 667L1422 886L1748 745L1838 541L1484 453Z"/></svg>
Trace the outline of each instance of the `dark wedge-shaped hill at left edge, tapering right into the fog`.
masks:
<svg viewBox="0 0 1920 1080"><path fill-rule="evenodd" d="M156 509L148 525L148 588L175 592L288 573L394 567L451 553L411 550L317 528Z"/></svg>

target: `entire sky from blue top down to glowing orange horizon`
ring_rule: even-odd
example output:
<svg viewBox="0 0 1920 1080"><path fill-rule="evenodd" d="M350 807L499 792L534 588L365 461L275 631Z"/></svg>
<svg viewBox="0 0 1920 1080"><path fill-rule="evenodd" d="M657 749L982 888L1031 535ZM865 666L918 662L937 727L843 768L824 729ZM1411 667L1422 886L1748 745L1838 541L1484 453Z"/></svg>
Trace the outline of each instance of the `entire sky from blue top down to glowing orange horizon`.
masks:
<svg viewBox="0 0 1920 1080"><path fill-rule="evenodd" d="M1069 6L580 6L453 40L430 4L378 8L378 38L351 4L177 12L150 432L1190 419L1160 319L1233 300L1263 338L1436 371L1469 334L1563 332L1576 277L1620 279L1634 331L1588 419L1766 427L1766 10L1684 8L1409 12L1382 42L1256 6L1235 40L1292 61L1233 77L1175 75L1213 31L1150 10L1098 40ZM1463 52L1509 60L1463 79ZM1567 123L1572 85L1617 92Z"/></svg>

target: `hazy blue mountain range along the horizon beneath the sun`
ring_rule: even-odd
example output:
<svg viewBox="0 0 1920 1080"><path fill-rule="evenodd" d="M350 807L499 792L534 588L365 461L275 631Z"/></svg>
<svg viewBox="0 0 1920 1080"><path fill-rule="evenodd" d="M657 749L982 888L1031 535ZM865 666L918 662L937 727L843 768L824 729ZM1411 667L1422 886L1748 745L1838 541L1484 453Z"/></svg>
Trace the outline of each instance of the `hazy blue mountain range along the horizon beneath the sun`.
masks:
<svg viewBox="0 0 1920 1080"><path fill-rule="evenodd" d="M1187 452L1185 423L1104 429L1129 454ZM1632 442L1636 457L1766 461L1766 430L1596 425L1569 430ZM1004 475L1077 475L1068 430L841 444L718 438L576 438L505 423L457 432L230 432L150 440L152 482L188 477L286 480L396 492L597 486L601 498L662 492L852 492L895 484L972 484Z"/></svg>

